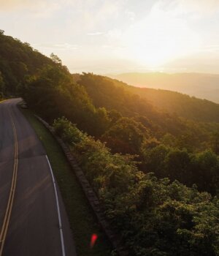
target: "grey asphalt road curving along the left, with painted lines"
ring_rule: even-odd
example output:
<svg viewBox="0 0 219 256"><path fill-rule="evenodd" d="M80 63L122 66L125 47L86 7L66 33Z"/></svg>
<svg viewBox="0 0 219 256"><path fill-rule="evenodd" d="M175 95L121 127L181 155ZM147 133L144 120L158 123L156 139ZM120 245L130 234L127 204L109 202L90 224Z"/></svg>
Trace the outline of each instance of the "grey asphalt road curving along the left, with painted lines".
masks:
<svg viewBox="0 0 219 256"><path fill-rule="evenodd" d="M45 149L19 101L0 103L0 256L74 256Z"/></svg>

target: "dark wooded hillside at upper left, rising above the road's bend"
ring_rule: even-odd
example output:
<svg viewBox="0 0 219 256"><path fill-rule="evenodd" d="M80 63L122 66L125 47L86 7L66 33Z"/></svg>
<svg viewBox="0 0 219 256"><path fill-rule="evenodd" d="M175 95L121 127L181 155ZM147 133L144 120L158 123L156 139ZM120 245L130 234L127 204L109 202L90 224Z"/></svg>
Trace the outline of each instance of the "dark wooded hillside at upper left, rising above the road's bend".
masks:
<svg viewBox="0 0 219 256"><path fill-rule="evenodd" d="M0 91L16 94L28 75L36 74L51 59L34 50L28 42L20 42L0 31Z"/></svg>

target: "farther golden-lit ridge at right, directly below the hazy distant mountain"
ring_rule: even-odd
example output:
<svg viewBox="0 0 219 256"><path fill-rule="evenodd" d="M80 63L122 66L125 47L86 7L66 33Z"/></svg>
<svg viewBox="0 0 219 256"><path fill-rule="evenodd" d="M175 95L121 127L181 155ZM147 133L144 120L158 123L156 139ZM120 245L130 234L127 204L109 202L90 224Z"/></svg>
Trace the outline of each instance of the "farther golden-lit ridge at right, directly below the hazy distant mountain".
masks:
<svg viewBox="0 0 219 256"><path fill-rule="evenodd" d="M147 99L154 107L167 113L177 114L196 121L219 121L219 104L210 102L207 99L190 97L176 91L128 86L118 80L113 80L113 82L115 86L137 94L142 99Z"/></svg>

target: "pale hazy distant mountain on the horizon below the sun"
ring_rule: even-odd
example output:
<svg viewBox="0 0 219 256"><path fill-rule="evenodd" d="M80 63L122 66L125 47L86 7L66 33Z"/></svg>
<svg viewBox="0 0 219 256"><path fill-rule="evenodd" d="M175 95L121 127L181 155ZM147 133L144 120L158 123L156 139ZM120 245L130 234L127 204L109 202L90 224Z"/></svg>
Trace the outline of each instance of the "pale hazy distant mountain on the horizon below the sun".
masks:
<svg viewBox="0 0 219 256"><path fill-rule="evenodd" d="M138 87L178 91L219 103L219 75L199 73L123 73L108 75Z"/></svg>

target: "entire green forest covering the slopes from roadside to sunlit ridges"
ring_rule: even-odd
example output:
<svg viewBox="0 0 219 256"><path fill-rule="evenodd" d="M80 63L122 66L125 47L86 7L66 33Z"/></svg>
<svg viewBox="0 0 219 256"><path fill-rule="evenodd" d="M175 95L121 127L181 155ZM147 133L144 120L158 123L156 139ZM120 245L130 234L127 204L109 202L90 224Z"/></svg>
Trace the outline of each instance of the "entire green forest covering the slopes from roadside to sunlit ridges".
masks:
<svg viewBox="0 0 219 256"><path fill-rule="evenodd" d="M0 91L69 144L131 255L219 255L219 105L71 74L4 31Z"/></svg>

